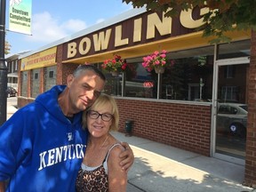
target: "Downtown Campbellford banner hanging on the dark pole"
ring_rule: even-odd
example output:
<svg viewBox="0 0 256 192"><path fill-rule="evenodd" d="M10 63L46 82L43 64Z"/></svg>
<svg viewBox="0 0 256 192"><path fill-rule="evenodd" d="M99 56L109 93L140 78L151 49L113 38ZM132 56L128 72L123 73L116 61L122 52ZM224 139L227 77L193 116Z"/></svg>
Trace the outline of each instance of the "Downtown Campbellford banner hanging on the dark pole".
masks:
<svg viewBox="0 0 256 192"><path fill-rule="evenodd" d="M31 35L32 0L10 0L9 30Z"/></svg>

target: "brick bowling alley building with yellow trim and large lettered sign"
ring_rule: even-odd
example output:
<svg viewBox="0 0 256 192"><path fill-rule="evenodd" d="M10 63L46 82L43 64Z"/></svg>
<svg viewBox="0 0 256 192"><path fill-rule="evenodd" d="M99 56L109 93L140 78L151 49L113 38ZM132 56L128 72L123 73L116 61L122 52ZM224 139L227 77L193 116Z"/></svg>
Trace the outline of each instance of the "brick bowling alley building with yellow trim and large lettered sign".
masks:
<svg viewBox="0 0 256 192"><path fill-rule="evenodd" d="M256 185L256 73L250 64L255 39L251 31L230 32L230 44L209 44L211 39L196 31L204 13L194 9L172 19L131 10L22 55L18 107L52 85L66 84L78 65L92 63L107 76L104 92L116 98L120 132L129 120L133 135L244 164L244 183ZM145 70L143 57L162 50L170 64L164 73ZM112 76L101 66L115 55L127 68Z"/></svg>

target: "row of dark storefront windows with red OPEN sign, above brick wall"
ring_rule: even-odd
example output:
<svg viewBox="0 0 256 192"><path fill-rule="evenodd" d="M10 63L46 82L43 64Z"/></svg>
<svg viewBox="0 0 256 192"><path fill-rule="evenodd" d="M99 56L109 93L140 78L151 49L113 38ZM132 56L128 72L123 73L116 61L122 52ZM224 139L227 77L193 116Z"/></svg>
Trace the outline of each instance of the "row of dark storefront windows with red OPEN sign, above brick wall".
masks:
<svg viewBox="0 0 256 192"><path fill-rule="evenodd" d="M172 65L165 68L164 74L160 76L159 99L212 100L213 53L213 46L169 52L167 60ZM143 68L141 60L142 57L127 60L129 68L124 74L106 74L108 83L105 92L124 97L156 99L158 75L155 70L148 72Z"/></svg>

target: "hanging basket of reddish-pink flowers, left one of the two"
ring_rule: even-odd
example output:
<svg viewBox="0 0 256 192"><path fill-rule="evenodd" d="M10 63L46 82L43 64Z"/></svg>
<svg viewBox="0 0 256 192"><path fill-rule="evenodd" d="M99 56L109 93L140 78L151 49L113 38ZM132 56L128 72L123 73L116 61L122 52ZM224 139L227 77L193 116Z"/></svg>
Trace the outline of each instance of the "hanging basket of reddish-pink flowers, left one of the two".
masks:
<svg viewBox="0 0 256 192"><path fill-rule="evenodd" d="M117 76L118 73L124 72L127 63L119 55L114 55L113 59L104 60L101 67L108 72L111 72L113 76Z"/></svg>

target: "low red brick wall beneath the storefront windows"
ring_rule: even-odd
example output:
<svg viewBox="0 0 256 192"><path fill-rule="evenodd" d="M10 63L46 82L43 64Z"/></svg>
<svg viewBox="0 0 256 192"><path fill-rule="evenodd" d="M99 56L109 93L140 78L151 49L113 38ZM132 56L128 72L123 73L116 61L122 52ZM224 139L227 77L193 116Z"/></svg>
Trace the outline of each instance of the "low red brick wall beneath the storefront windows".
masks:
<svg viewBox="0 0 256 192"><path fill-rule="evenodd" d="M211 106L116 98L119 131L134 121L132 135L210 156Z"/></svg>

